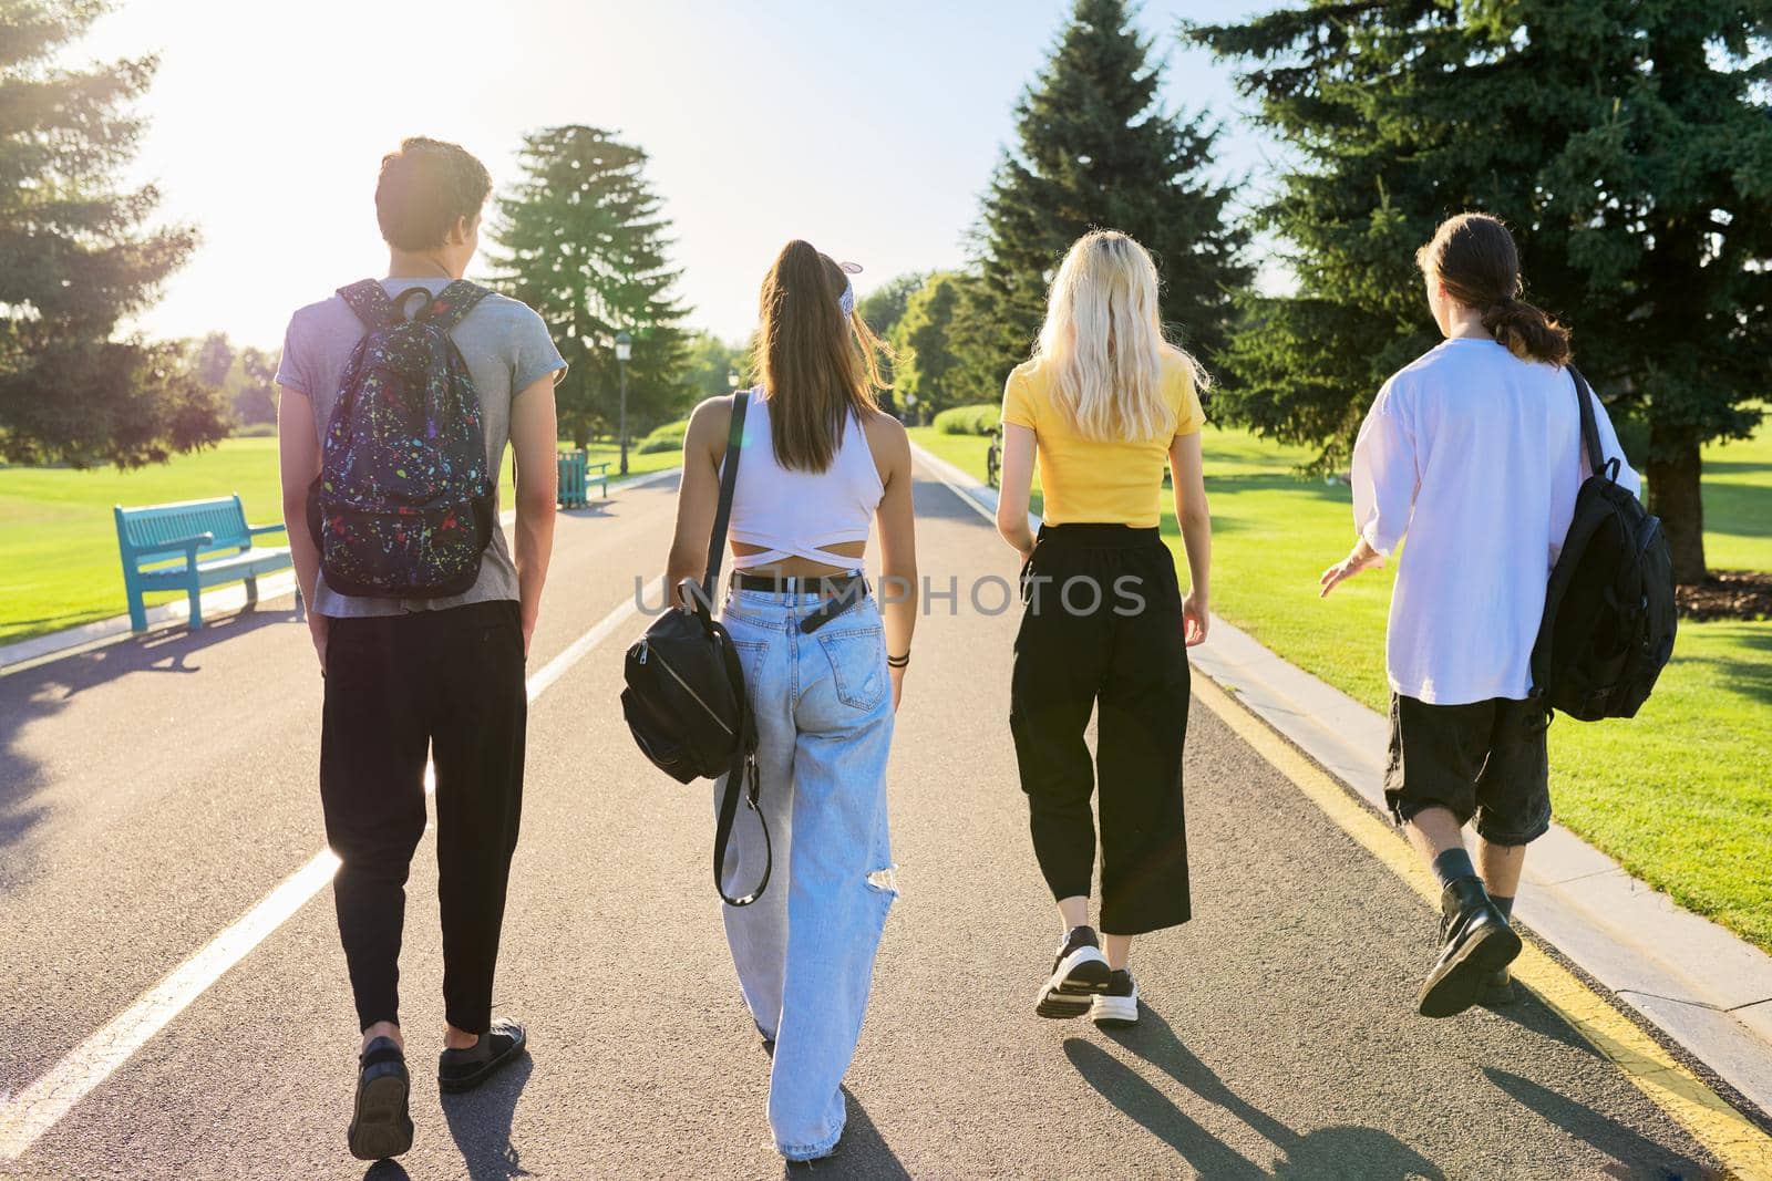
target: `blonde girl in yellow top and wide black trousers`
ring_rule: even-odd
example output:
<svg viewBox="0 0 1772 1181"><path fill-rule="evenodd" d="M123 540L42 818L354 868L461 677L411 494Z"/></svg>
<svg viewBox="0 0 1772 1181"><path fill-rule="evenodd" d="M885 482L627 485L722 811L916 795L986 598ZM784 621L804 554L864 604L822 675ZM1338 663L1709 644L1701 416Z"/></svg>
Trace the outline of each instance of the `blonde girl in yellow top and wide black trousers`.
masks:
<svg viewBox="0 0 1772 1181"><path fill-rule="evenodd" d="M1010 729L1033 852L1063 937L1040 1016L1138 1020L1132 937L1189 917L1182 744L1187 648L1207 637L1212 533L1200 475L1203 374L1164 338L1157 267L1097 230L1065 257L1033 359L1003 391L998 531L1022 558ZM1038 459L1045 522L1028 528ZM1164 464L1189 593L1164 545ZM1097 753L1083 740L1097 714ZM1100 786L1100 931L1090 926Z"/></svg>

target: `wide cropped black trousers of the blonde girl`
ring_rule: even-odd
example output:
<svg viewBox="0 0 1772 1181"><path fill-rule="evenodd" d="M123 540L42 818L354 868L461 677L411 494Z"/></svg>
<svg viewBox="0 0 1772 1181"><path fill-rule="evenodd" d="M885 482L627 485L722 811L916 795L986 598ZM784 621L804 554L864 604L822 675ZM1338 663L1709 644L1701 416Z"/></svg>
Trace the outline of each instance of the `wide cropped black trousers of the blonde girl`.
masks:
<svg viewBox="0 0 1772 1181"><path fill-rule="evenodd" d="M1100 783L1102 931L1185 922L1187 645L1157 529L1044 526L1022 570L1010 729L1053 898L1088 896ZM1097 714L1095 760L1083 740Z"/></svg>

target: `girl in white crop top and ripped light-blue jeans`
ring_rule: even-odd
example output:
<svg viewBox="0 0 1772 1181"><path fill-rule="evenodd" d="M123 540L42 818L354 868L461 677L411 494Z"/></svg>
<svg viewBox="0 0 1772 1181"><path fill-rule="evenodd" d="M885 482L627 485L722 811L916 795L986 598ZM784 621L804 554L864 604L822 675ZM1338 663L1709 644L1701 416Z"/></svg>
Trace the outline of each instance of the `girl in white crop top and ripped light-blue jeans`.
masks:
<svg viewBox="0 0 1772 1181"><path fill-rule="evenodd" d="M666 577L675 588L705 570L744 398L723 621L757 715L774 875L755 903L723 910L744 1002L773 1046L769 1124L789 1160L828 1156L843 1131L843 1071L895 898L886 754L916 623L911 443L874 398L881 345L854 299L829 257L803 241L781 250L762 287L760 384L689 418ZM881 598L861 570L874 526ZM735 829L727 889L757 882L764 857L760 829Z"/></svg>

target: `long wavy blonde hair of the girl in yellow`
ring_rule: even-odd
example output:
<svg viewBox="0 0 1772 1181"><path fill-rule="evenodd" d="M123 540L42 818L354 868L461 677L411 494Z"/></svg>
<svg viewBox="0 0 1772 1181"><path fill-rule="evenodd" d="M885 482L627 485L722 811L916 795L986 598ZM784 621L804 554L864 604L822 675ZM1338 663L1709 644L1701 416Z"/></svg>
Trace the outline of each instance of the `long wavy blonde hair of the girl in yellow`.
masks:
<svg viewBox="0 0 1772 1181"><path fill-rule="evenodd" d="M1118 230L1090 230L1065 255L1045 303L1035 359L1053 400L1084 439L1155 439L1175 428L1162 359L1178 356L1194 386L1200 365L1162 335L1157 264Z"/></svg>

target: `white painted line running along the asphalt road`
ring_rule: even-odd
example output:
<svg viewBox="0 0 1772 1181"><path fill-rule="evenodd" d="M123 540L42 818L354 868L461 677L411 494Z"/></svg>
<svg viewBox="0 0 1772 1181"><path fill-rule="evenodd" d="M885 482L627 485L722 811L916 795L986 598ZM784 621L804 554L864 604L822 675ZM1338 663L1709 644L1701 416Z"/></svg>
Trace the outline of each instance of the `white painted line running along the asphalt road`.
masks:
<svg viewBox="0 0 1772 1181"><path fill-rule="evenodd" d="M663 593L663 579L652 590ZM636 595L602 616L565 652L537 669L526 683L530 701L546 692L567 669L583 660L592 648L608 639L610 632L638 611ZM434 788L436 772L425 767L425 791ZM135 1004L106 1022L103 1029L69 1050L43 1078L18 1094L0 1094L0 1160L23 1156L44 1131L53 1128L80 1100L165 1029L167 1022L204 995L229 969L245 960L246 953L262 944L271 931L319 894L337 869L338 857L330 848L317 852L308 864L284 878L239 921L142 993Z"/></svg>

